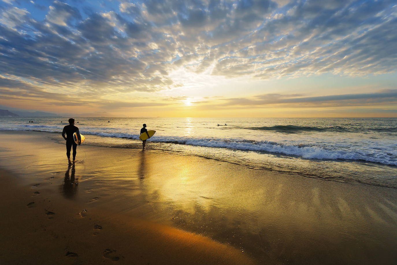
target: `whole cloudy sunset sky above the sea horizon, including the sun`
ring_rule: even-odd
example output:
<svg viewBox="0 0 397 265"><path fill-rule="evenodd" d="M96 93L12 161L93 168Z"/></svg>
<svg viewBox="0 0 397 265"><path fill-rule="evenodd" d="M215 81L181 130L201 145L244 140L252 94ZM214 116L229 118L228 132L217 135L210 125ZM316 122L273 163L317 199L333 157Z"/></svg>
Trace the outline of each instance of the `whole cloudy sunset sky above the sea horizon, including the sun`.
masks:
<svg viewBox="0 0 397 265"><path fill-rule="evenodd" d="M396 0L0 0L0 105L397 117Z"/></svg>

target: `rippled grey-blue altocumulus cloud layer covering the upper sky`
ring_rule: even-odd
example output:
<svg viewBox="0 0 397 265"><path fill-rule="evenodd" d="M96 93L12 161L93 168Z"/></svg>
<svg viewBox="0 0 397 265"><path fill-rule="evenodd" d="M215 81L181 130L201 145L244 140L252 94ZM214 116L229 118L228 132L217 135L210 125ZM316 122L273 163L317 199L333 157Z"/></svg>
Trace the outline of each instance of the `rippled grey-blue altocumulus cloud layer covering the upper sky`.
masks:
<svg viewBox="0 0 397 265"><path fill-rule="evenodd" d="M395 0L31 2L0 0L3 97L94 101L172 89L180 84L169 73L181 67L269 79L384 74L397 65Z"/></svg>

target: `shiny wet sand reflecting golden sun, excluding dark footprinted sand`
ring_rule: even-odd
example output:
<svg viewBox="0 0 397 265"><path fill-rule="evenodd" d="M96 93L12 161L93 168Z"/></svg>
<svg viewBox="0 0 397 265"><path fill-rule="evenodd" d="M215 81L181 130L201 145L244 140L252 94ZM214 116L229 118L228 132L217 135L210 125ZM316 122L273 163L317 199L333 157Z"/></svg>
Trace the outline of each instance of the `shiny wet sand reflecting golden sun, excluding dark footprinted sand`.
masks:
<svg viewBox="0 0 397 265"><path fill-rule="evenodd" d="M208 244L231 246L247 262L392 264L397 258L393 253L397 246L397 191L393 188L324 182L150 149L142 153L89 145L84 147L86 161L68 168L65 146L40 141L42 132L0 134L0 166L19 176L18 183L10 181L8 186L21 186L26 194L31 192L29 198L40 192L31 197L35 202L32 208L26 206L29 202L19 202L15 211L20 215L26 209L48 207L44 203L57 211L63 205L69 221L72 217L103 219L112 213L119 219L155 223L160 230L193 233ZM36 184L40 185L31 188ZM11 201L2 194L3 200ZM22 192L15 194L12 204L23 197ZM39 206L37 199L46 196L51 201ZM85 217L79 215L83 209L87 210ZM59 216L54 210L54 219L48 219L44 209L40 211L35 213L40 216L37 227ZM117 222L110 223L106 226L118 229ZM91 238L95 237L92 232L90 228Z"/></svg>

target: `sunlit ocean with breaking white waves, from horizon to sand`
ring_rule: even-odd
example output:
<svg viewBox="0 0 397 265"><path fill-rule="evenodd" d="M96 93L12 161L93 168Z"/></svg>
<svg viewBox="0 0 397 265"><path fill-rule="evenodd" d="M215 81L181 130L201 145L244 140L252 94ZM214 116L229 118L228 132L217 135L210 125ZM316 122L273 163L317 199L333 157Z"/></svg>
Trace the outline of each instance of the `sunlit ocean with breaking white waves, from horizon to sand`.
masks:
<svg viewBox="0 0 397 265"><path fill-rule="evenodd" d="M148 130L156 130L146 143L150 149L397 188L397 118L76 118L76 122L87 138L81 149L141 148L139 131L145 123ZM61 133L67 124L66 117L0 117L0 130ZM61 135L50 139L64 142Z"/></svg>

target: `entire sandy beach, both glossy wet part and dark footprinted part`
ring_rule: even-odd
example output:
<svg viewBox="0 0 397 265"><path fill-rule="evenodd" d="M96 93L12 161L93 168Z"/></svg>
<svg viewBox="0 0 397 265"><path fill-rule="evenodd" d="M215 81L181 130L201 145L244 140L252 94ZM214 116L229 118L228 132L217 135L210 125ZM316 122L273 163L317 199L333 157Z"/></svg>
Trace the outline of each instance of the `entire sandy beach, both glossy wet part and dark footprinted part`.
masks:
<svg viewBox="0 0 397 265"><path fill-rule="evenodd" d="M150 142L145 152L82 145L87 158L68 166L60 134L0 135L0 264L397 260L395 189L159 153Z"/></svg>

